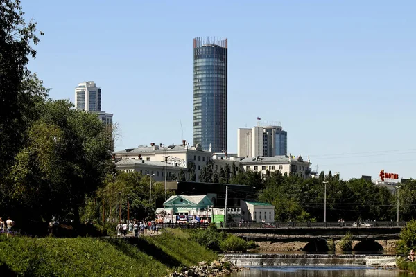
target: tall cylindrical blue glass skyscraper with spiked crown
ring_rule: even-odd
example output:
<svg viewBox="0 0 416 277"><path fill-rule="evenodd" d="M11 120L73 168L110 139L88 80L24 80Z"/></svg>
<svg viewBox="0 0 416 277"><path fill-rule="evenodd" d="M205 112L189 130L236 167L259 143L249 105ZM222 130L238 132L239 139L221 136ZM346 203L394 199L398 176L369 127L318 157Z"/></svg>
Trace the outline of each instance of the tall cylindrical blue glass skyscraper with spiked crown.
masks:
<svg viewBox="0 0 416 277"><path fill-rule="evenodd" d="M193 145L227 152L227 39L193 39Z"/></svg>

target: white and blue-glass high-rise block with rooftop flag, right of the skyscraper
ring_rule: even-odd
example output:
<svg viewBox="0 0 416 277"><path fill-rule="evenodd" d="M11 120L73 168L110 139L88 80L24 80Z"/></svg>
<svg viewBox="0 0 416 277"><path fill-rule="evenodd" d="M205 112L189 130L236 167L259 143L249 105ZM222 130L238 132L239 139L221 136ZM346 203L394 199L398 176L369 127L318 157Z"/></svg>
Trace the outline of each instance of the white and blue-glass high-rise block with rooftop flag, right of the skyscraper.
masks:
<svg viewBox="0 0 416 277"><path fill-rule="evenodd" d="M280 125L237 130L239 157L274 157L288 154L288 132Z"/></svg>

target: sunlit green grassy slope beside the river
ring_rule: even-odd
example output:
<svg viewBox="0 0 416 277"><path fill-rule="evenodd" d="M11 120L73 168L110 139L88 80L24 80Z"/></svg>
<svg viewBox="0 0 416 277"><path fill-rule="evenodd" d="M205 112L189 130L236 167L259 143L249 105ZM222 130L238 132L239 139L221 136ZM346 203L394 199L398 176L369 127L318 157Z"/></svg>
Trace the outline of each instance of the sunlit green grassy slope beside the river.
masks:
<svg viewBox="0 0 416 277"><path fill-rule="evenodd" d="M180 230L137 240L117 238L6 238L0 270L26 276L166 276L175 267L215 260L215 253Z"/></svg>

